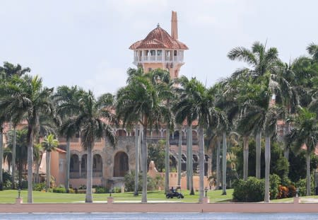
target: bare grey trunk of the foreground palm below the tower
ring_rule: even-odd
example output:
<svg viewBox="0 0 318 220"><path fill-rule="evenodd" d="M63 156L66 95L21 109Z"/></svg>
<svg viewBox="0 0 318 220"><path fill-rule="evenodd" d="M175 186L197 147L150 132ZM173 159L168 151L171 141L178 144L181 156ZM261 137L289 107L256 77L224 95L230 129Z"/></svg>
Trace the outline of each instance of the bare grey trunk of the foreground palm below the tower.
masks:
<svg viewBox="0 0 318 220"><path fill-rule="evenodd" d="M147 120L145 120L147 122ZM146 123L145 123L146 124ZM141 202L147 202L147 126L143 126L143 140L141 142L141 163L143 166L143 195Z"/></svg>

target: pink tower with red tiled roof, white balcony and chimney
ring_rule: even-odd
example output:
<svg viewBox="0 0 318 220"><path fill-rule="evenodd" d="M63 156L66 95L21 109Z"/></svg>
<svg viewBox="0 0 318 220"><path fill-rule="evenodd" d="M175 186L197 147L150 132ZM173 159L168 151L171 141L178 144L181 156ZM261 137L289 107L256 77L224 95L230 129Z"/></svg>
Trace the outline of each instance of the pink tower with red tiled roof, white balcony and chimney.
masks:
<svg viewBox="0 0 318 220"><path fill-rule="evenodd" d="M184 64L184 50L188 50L178 40L177 12L172 11L171 35L158 24L145 39L134 42L129 49L134 50L134 64L143 67L143 71L166 69L171 79L177 78Z"/></svg>

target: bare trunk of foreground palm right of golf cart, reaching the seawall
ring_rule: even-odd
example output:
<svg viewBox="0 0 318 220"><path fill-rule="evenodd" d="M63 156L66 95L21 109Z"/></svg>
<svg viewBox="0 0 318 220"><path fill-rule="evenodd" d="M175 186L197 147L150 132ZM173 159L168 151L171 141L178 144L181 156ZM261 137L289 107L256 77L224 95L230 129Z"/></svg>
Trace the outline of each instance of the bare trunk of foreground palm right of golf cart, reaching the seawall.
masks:
<svg viewBox="0 0 318 220"><path fill-rule="evenodd" d="M203 201L204 197L204 129L199 127L199 202Z"/></svg>

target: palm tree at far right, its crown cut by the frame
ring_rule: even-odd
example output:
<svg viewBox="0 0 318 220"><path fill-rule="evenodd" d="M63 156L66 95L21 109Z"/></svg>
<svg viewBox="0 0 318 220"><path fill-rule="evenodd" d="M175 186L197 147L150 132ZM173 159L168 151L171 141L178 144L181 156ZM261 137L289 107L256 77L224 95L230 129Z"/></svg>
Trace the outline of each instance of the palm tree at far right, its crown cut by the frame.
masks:
<svg viewBox="0 0 318 220"><path fill-rule="evenodd" d="M306 149L307 184L306 195L310 195L310 156L314 152L318 141L317 115L307 108L300 108L295 120L295 127L288 134L287 139L293 143L293 149L298 152Z"/></svg>

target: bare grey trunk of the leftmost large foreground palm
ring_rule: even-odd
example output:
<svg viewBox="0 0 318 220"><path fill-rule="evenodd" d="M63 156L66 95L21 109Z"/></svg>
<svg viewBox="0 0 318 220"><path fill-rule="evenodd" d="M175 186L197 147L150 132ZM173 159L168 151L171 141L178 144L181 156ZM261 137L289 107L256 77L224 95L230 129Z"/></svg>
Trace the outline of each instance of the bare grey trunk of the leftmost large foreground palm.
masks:
<svg viewBox="0 0 318 220"><path fill-rule="evenodd" d="M28 135L28 203L33 203L33 129L30 127Z"/></svg>

